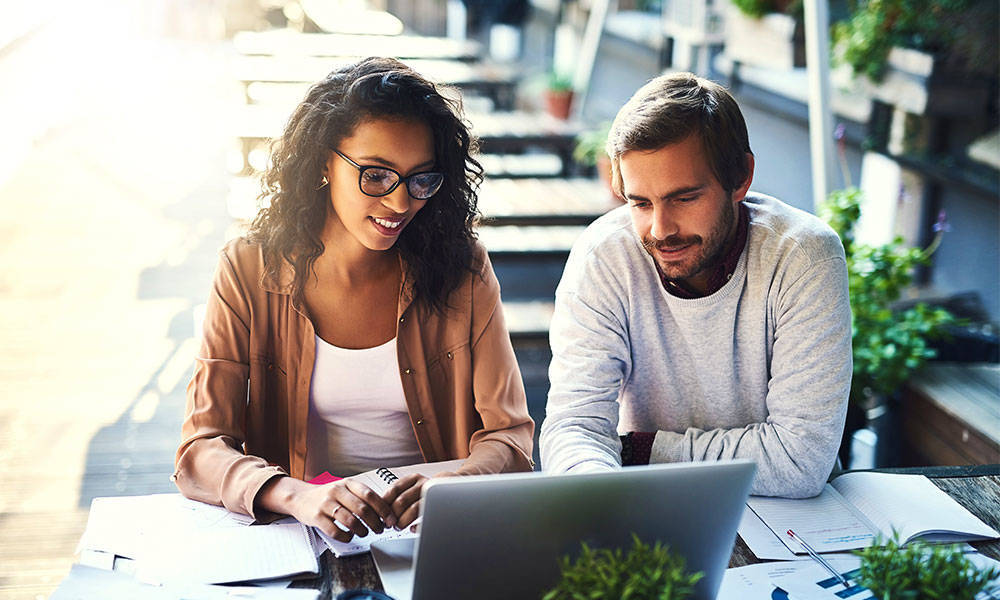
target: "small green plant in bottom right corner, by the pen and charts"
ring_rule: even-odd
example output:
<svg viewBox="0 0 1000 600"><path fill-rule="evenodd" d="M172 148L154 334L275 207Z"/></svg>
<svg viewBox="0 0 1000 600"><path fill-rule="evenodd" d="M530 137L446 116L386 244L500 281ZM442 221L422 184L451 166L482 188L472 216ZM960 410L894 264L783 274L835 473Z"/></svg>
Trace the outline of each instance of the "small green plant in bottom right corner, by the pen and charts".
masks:
<svg viewBox="0 0 1000 600"><path fill-rule="evenodd" d="M901 546L895 533L892 539L876 539L855 554L861 557L856 583L880 600L974 600L1000 576L997 569L977 568L961 546L921 541Z"/></svg>

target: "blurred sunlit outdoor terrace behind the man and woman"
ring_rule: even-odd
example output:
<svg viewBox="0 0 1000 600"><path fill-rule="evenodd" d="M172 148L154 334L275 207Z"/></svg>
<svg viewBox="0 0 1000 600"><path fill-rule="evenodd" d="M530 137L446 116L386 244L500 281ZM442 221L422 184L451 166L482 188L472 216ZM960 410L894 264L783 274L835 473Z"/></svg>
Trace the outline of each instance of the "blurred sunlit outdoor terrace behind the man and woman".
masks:
<svg viewBox="0 0 1000 600"><path fill-rule="evenodd" d="M1000 462L998 5L823 7L822 189L860 189L856 237L885 256L939 237L896 265L886 312L955 317L942 339L856 330L856 365L881 353L892 373L852 398L845 461ZM461 94L488 173L478 231L540 423L555 285L619 205L607 122L664 71L719 81L747 118L753 189L821 212L806 36L796 0L0 2L0 597L55 589L94 497L174 491L217 251L258 209L267 141L309 83L384 54Z"/></svg>

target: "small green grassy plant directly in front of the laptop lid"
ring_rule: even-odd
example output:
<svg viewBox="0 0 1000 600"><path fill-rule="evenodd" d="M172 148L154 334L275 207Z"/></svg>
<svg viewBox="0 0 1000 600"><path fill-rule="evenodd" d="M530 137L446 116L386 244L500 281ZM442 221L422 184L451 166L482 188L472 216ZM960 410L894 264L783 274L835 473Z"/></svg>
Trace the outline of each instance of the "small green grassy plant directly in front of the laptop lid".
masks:
<svg viewBox="0 0 1000 600"><path fill-rule="evenodd" d="M542 600L683 600L704 576L687 572L684 557L656 542L643 543L632 534L626 553L582 545L575 561L564 556L560 578Z"/></svg>

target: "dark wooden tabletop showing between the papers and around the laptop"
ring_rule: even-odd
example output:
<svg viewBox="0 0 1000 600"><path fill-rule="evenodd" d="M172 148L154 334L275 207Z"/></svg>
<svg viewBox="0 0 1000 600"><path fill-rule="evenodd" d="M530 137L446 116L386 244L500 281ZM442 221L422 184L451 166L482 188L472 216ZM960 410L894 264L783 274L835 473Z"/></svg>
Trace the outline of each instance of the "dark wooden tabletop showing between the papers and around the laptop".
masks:
<svg viewBox="0 0 1000 600"><path fill-rule="evenodd" d="M1000 529L1000 464L878 470L927 475L935 485L947 492L969 512L990 527ZM972 545L982 554L1000 560L1000 542L975 542ZM737 536L729 566L742 567L759 562L765 561L754 556L743 540ZM371 553L334 558L330 552L325 552L320 558L318 577L298 581L292 587L318 589L322 600L335 598L337 594L349 589L368 588L379 591L383 589Z"/></svg>

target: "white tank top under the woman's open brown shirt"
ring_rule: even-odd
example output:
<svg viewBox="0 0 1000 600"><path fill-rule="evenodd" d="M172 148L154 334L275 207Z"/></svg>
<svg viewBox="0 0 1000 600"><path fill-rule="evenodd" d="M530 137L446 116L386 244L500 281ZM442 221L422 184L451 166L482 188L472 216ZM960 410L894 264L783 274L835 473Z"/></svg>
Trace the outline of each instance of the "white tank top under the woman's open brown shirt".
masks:
<svg viewBox="0 0 1000 600"><path fill-rule="evenodd" d="M316 336L306 479L423 462L406 409L395 338L349 350Z"/></svg>

